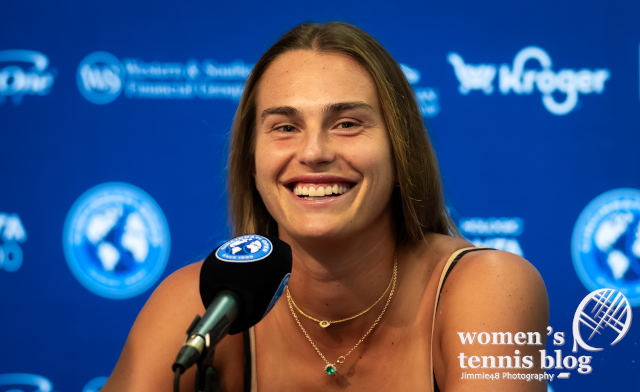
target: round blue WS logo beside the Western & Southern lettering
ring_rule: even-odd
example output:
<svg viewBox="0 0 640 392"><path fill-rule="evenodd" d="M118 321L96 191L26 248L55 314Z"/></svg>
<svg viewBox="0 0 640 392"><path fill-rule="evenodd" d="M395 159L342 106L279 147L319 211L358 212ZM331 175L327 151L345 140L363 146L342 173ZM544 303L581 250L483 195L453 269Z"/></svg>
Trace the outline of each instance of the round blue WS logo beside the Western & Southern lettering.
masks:
<svg viewBox="0 0 640 392"><path fill-rule="evenodd" d="M104 105L118 98L124 76L125 70L117 57L107 52L94 52L80 62L76 83L89 102Z"/></svg>

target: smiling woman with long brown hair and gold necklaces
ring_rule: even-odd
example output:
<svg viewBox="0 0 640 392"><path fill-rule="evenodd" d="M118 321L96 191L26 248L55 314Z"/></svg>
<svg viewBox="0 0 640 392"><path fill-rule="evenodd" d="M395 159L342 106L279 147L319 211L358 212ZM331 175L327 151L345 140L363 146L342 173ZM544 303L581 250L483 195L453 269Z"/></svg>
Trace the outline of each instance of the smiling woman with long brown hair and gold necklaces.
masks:
<svg viewBox="0 0 640 392"><path fill-rule="evenodd" d="M546 390L468 376L540 372L544 283L515 255L457 252L472 245L451 235L412 90L363 31L305 24L262 56L236 114L229 189L236 235L278 236L291 245L293 271L286 295L251 331L250 350L242 334L217 346L223 390ZM175 272L153 293L103 391L171 390L184 329L204 311L199 269ZM541 341L461 338L481 331ZM512 369L483 362L507 357ZM182 390L192 383L193 369Z"/></svg>

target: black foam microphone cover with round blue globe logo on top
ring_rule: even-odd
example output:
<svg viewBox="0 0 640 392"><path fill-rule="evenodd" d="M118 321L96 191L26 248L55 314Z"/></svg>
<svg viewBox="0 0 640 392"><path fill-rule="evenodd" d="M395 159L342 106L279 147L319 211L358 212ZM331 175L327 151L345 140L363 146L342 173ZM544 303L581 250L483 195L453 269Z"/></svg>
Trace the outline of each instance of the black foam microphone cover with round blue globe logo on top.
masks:
<svg viewBox="0 0 640 392"><path fill-rule="evenodd" d="M291 273L291 248L278 239L248 234L222 244L200 269L200 297L205 308L222 290L240 301L229 333L260 321L282 294Z"/></svg>

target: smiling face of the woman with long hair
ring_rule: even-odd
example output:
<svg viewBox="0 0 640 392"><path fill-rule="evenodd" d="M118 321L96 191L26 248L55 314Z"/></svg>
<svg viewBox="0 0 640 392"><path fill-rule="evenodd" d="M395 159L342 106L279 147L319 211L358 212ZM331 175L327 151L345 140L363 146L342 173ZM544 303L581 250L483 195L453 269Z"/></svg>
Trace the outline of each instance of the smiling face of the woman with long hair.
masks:
<svg viewBox="0 0 640 392"><path fill-rule="evenodd" d="M294 50L257 88L255 182L280 234L390 228L391 144L367 70L343 54Z"/></svg>

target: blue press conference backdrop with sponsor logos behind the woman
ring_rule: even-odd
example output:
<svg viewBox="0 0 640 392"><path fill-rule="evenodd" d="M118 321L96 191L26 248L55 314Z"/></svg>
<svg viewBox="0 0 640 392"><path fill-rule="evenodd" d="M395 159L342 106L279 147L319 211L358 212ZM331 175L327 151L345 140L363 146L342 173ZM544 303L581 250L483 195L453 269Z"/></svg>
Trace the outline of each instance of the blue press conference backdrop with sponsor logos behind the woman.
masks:
<svg viewBox="0 0 640 392"><path fill-rule="evenodd" d="M549 389L639 391L639 3L306 3L3 2L0 391L100 388L153 288L229 237L252 65L332 20L402 64L462 234L541 272Z"/></svg>

